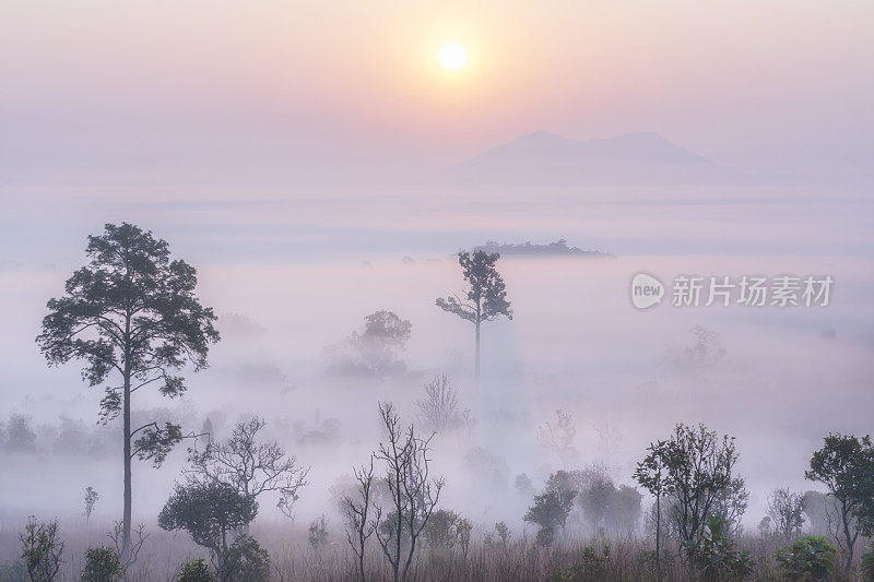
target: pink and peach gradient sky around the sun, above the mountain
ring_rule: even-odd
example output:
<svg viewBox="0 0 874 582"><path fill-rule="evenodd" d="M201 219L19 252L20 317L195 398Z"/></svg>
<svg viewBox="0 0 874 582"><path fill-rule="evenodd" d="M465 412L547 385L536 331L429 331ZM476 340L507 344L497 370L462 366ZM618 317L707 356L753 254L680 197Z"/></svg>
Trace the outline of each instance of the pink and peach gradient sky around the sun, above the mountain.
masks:
<svg viewBox="0 0 874 582"><path fill-rule="evenodd" d="M0 169L437 168L545 129L866 171L872 24L849 0L7 0Z"/></svg>

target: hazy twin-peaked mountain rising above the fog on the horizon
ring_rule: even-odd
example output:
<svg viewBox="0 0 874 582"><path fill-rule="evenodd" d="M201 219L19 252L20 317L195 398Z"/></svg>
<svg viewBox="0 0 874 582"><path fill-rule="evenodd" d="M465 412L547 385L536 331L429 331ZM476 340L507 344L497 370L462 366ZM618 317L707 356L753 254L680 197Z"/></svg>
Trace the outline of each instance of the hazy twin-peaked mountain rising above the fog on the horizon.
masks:
<svg viewBox="0 0 874 582"><path fill-rule="evenodd" d="M445 171L445 186L580 187L710 180L724 168L658 133L572 140L538 131Z"/></svg>

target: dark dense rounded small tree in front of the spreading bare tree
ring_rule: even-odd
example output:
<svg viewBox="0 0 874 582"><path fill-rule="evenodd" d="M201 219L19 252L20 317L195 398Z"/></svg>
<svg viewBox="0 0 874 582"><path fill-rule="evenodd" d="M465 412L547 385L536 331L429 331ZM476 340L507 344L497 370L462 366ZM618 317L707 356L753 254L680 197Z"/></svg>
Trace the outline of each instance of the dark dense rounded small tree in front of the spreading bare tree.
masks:
<svg viewBox="0 0 874 582"><path fill-rule="evenodd" d="M164 530L185 530L196 544L212 553L216 570L224 571L231 551L228 538L255 520L258 503L225 483L177 485L157 518Z"/></svg>

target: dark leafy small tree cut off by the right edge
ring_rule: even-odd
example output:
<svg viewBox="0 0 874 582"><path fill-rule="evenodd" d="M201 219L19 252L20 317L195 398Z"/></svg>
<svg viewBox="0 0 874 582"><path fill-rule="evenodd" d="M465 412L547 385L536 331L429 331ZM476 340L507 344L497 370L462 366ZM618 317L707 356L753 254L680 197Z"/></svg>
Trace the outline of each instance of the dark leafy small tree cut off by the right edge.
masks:
<svg viewBox="0 0 874 582"><path fill-rule="evenodd" d="M853 563L859 535L874 531L874 444L871 437L829 435L813 453L805 478L824 484L836 500L832 535L845 551L843 573ZM827 507L827 506L826 506Z"/></svg>

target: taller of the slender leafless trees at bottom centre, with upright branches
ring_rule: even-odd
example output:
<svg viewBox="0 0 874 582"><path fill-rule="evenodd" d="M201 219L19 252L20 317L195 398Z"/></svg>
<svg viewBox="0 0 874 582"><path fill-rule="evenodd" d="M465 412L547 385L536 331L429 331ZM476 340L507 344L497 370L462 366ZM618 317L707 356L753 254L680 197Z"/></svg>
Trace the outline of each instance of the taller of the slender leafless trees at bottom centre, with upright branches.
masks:
<svg viewBox="0 0 874 582"><path fill-rule="evenodd" d="M394 581L405 581L416 542L437 506L445 482L442 477L432 478L429 474L428 450L433 435L423 439L415 433L413 425L404 429L391 403L380 403L379 415L386 429L386 441L379 443L375 458L386 465L391 506L389 511L377 507L371 523L394 572ZM383 513L386 520L380 522Z"/></svg>

